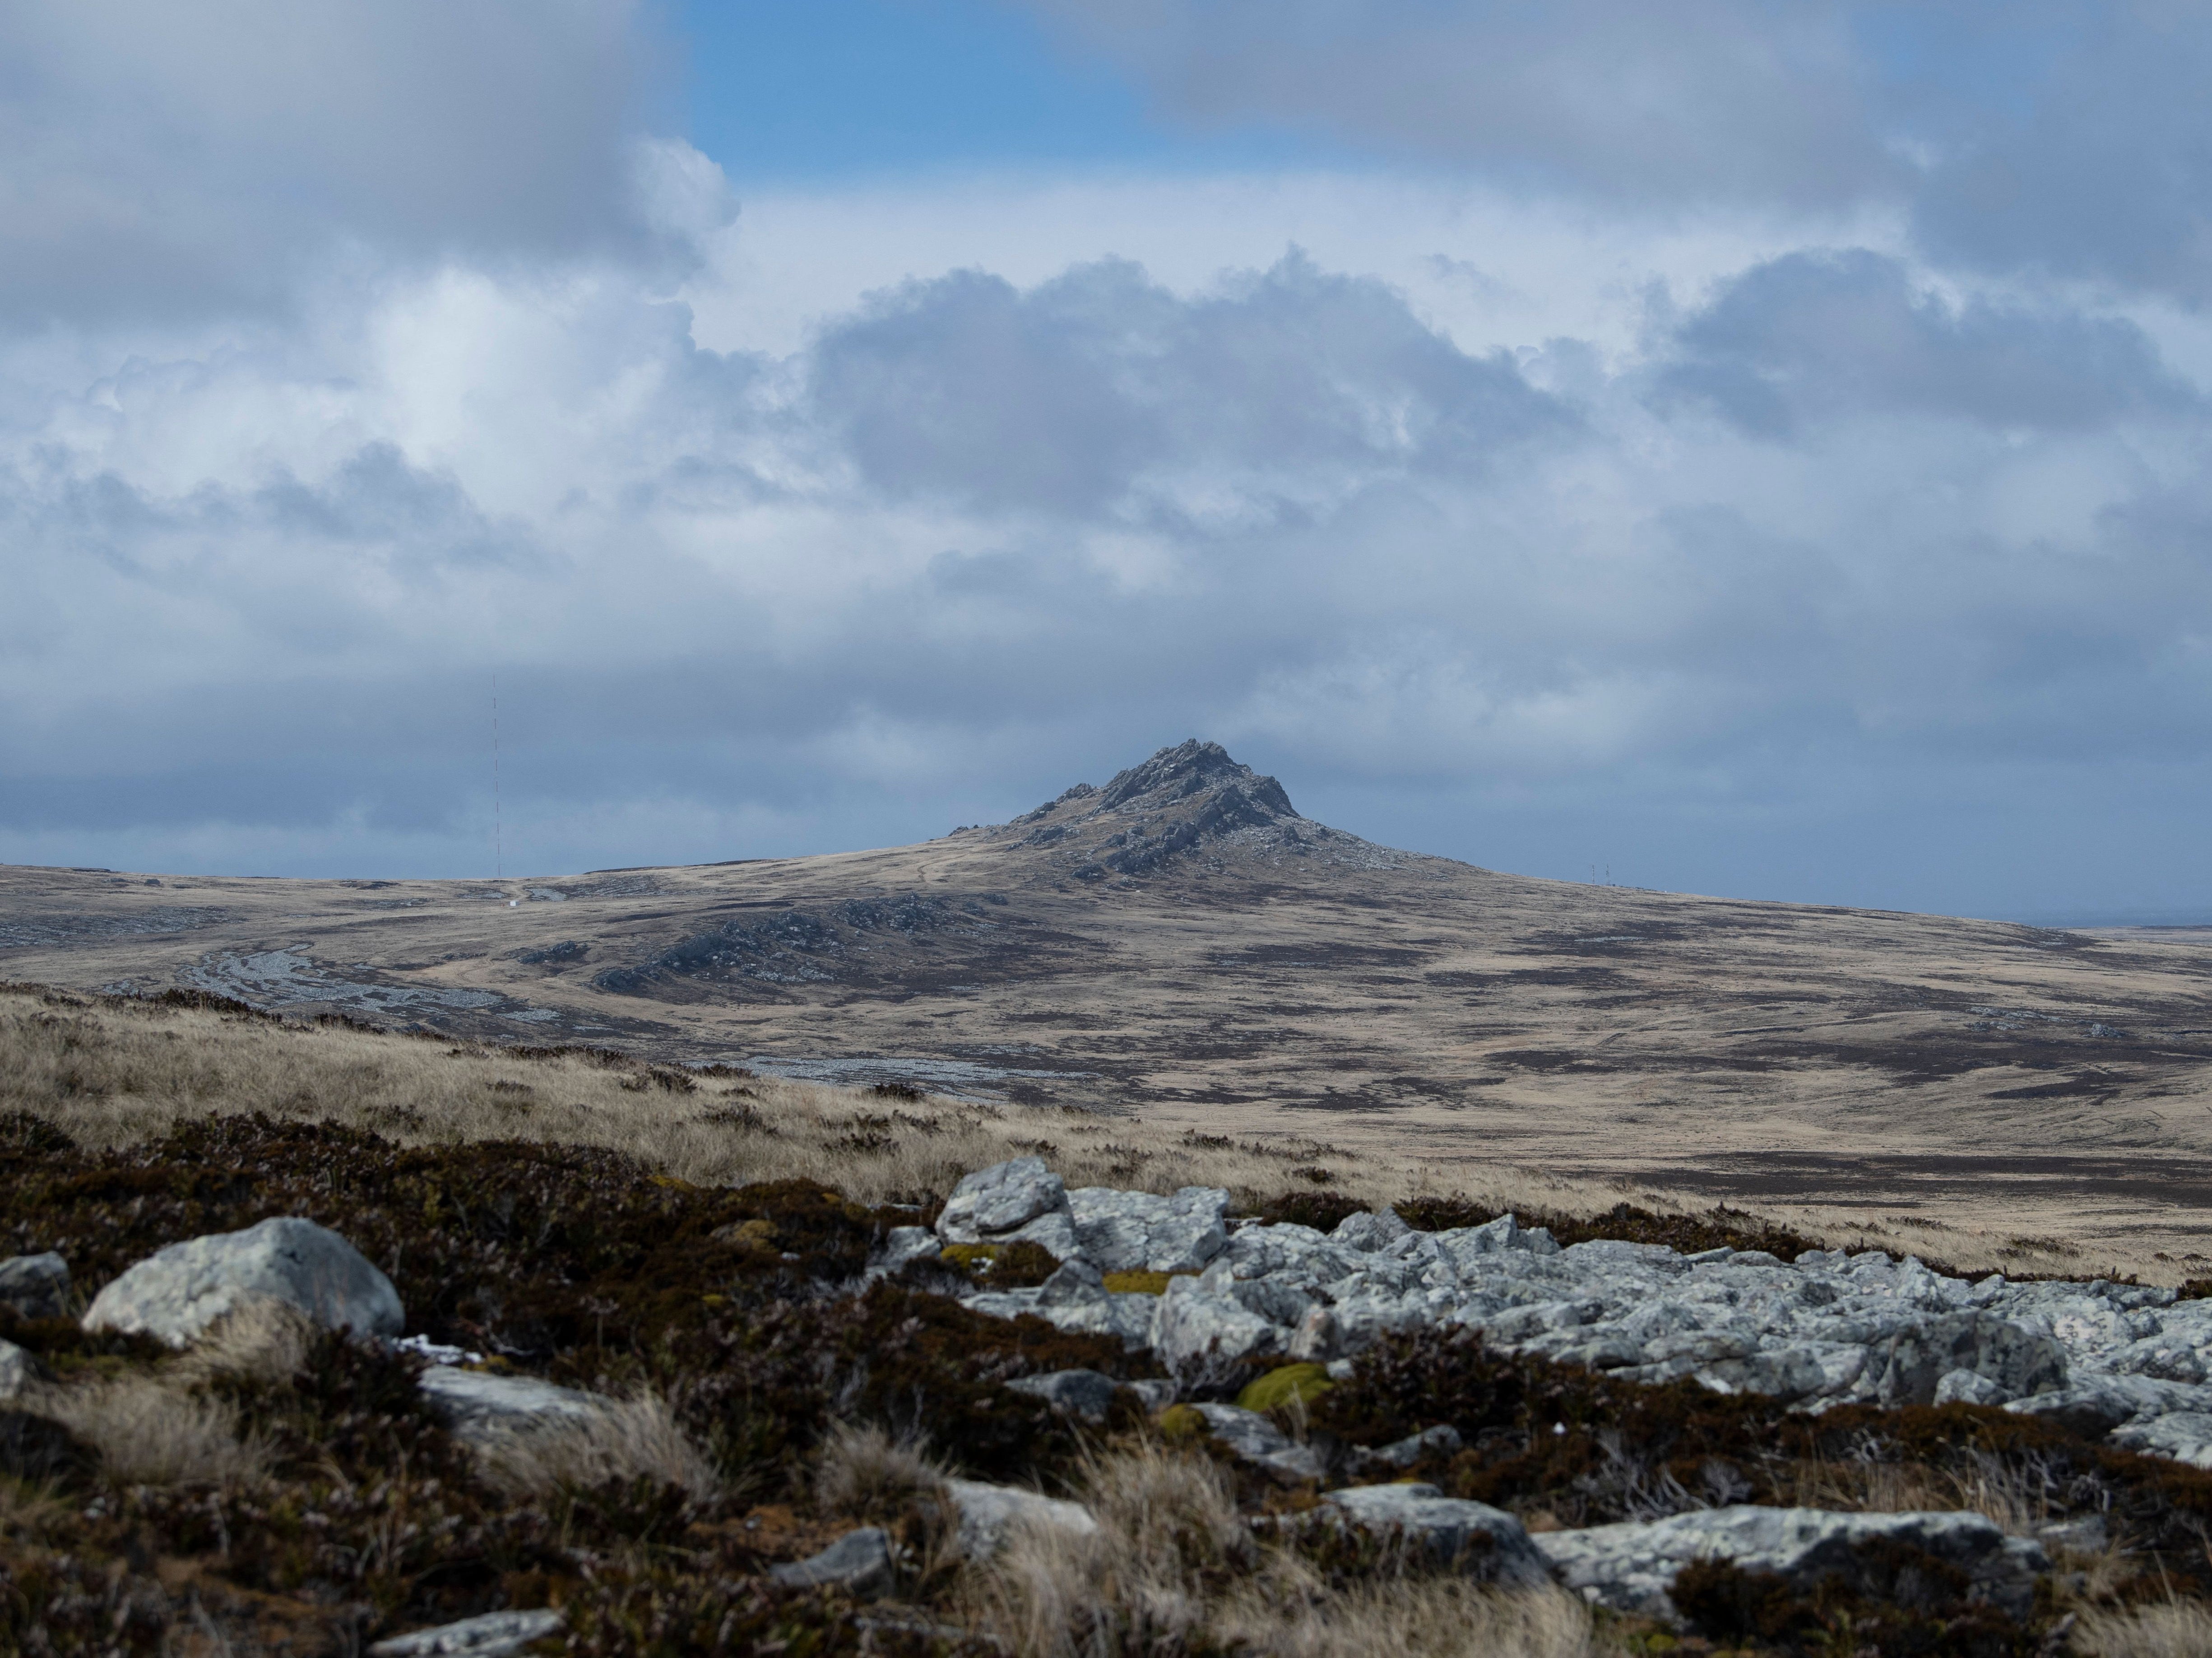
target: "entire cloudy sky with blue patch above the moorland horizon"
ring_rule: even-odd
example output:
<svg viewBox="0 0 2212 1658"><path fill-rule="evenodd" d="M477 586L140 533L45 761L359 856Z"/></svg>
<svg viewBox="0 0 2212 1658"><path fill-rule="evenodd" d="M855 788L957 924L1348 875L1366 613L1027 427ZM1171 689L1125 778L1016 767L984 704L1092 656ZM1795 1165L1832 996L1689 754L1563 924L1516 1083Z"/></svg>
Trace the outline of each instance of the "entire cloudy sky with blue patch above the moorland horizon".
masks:
<svg viewBox="0 0 2212 1658"><path fill-rule="evenodd" d="M2212 31L0 9L0 861L889 846L1186 737L1575 881L2212 919Z"/></svg>

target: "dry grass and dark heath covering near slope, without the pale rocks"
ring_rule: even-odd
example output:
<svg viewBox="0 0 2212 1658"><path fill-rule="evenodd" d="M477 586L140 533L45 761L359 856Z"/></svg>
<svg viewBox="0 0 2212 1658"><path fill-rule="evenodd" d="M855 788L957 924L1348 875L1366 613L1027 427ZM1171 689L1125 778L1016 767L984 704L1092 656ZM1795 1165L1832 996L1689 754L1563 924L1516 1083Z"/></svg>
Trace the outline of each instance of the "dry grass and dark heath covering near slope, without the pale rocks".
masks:
<svg viewBox="0 0 2212 1658"><path fill-rule="evenodd" d="M164 1244L301 1213L392 1275L411 1330L617 1401L478 1452L427 1412L400 1353L257 1315L170 1355L0 1310L0 1337L49 1372L0 1408L0 1654L352 1654L544 1603L568 1618L549 1651L580 1654L2212 1651L2212 1474L2055 1423L1790 1417L1442 1330L1285 1403L1287 1430L1358 1443L1453 1423L1467 1448L1411 1472L1531 1527L1761 1501L1975 1507L2015 1532L2101 1516L2110 1534L2062 1561L2026 1625L1907 1561L1900 1583L1920 1576L1882 1600L1712 1572L1686 1589L1697 1631L1674 1636L1332 1543L1298 1523L1314 1492L1221 1461L1130 1395L1093 1430L1009 1392L1148 1361L971 1315L945 1268L849 1293L885 1229L1022 1151L1071 1184L1206 1180L1316 1222L1387 1200L1416 1224L1495 1213L1500 1193L1422 1193L1323 1147L1150 1144L1126 1120L31 987L0 996L0 1255L62 1251L75 1310ZM1812 1242L1617 1193L1579 1215L1573 1193L1524 1195L1568 1237ZM1102 1534L960 1565L947 1472L1079 1494ZM889 1603L765 1578L856 1523L900 1543Z"/></svg>

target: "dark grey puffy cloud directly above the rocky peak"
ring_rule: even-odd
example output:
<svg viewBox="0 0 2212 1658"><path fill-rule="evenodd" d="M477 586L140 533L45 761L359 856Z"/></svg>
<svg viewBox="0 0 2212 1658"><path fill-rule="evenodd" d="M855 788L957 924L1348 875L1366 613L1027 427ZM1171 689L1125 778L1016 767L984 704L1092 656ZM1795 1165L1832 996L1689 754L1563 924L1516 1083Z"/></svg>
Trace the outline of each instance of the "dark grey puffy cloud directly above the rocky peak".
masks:
<svg viewBox="0 0 2212 1658"><path fill-rule="evenodd" d="M1469 474L1573 416L1371 279L1296 250L1179 301L1126 261L1029 292L956 272L878 297L814 352L814 405L894 494L1097 511L1148 474L1256 494ZM1274 483L1270 483L1270 478Z"/></svg>

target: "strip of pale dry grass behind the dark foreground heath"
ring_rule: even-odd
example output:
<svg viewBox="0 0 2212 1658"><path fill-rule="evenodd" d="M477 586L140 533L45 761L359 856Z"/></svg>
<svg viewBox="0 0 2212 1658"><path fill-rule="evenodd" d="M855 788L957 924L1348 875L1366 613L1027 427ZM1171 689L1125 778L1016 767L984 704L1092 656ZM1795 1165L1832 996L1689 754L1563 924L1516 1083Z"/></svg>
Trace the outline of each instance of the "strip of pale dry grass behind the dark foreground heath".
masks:
<svg viewBox="0 0 2212 1658"><path fill-rule="evenodd" d="M526 1056L38 985L0 985L0 1111L35 1111L93 1147L155 1138L210 1111L336 1122L403 1144L597 1144L695 1184L805 1178L863 1202L945 1193L971 1169L1042 1156L1071 1186L1225 1186L1239 1200L1272 1198L1325 1169L1332 1189L1376 1206L1422 1193L1568 1213L1604 1211L1624 1198L1661 1213L1705 1206L1506 1164L1469 1180L1464 1162L1360 1153L1312 1138L1177 1133L1079 1107L902 1100L768 1076L692 1076L641 1060ZM1980 1248L1958 1233L1922 1240L1902 1224L1867 1226L1863 1217L1832 1242L2000 1264L1995 1244ZM2002 1264L2022 1268L2017 1260Z"/></svg>

